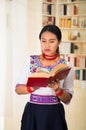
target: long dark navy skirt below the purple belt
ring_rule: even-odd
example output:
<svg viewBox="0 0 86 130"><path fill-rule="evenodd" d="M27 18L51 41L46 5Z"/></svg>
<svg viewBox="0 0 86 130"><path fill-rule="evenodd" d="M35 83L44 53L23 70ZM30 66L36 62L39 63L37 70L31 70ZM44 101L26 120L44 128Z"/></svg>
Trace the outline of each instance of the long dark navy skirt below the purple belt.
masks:
<svg viewBox="0 0 86 130"><path fill-rule="evenodd" d="M68 130L63 105L28 102L22 115L21 130Z"/></svg>

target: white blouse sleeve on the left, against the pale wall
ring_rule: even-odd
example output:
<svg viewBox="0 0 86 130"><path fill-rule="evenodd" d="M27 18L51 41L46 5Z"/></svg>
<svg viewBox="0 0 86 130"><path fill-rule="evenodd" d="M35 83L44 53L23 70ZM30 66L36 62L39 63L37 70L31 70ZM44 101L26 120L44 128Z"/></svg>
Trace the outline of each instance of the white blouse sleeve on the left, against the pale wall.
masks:
<svg viewBox="0 0 86 130"><path fill-rule="evenodd" d="M30 57L27 58L22 69L20 70L20 73L16 82L16 87L19 84L26 85L29 75L30 75Z"/></svg>

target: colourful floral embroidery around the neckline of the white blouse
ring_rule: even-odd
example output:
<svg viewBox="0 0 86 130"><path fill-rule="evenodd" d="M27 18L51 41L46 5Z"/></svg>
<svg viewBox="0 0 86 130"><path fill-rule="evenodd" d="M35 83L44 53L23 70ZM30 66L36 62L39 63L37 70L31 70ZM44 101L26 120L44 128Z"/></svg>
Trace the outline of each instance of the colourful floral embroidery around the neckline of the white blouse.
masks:
<svg viewBox="0 0 86 130"><path fill-rule="evenodd" d="M46 68L48 71L51 71L53 69L53 67L55 67L57 64L60 64L60 63L67 64L67 61L65 59L61 59L61 60L57 61L57 63L54 66L42 67L40 61L38 60L38 56L31 55L30 56L30 72L31 73L36 72L39 67Z"/></svg>

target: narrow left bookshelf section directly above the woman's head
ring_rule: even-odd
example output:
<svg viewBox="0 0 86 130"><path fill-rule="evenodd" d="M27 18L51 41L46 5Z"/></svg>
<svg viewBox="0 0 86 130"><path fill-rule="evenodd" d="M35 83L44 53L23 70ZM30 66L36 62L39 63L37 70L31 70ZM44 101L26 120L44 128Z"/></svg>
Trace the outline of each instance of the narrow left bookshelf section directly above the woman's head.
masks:
<svg viewBox="0 0 86 130"><path fill-rule="evenodd" d="M56 0L42 0L42 26L56 24Z"/></svg>

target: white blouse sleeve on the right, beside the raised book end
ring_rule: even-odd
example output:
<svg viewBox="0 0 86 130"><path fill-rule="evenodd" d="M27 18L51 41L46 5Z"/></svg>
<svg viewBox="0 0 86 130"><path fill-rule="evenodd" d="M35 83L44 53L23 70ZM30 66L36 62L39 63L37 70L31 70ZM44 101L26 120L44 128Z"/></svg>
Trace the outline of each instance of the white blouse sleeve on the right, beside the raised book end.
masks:
<svg viewBox="0 0 86 130"><path fill-rule="evenodd" d="M71 70L68 76L61 82L61 86L65 91L68 91L71 95L74 93L74 69Z"/></svg>

